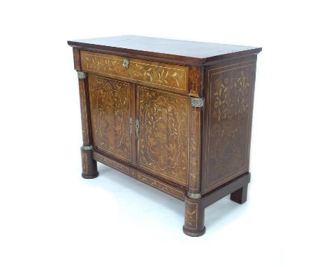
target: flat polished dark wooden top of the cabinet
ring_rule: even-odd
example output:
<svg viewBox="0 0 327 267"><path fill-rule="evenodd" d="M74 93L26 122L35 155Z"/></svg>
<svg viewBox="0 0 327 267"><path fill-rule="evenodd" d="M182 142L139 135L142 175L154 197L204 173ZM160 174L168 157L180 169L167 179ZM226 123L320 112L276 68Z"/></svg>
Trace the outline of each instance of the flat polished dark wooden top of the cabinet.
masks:
<svg viewBox="0 0 327 267"><path fill-rule="evenodd" d="M68 45L175 59L182 62L206 63L219 59L257 54L261 48L220 43L181 41L145 36L112 36L68 41Z"/></svg>

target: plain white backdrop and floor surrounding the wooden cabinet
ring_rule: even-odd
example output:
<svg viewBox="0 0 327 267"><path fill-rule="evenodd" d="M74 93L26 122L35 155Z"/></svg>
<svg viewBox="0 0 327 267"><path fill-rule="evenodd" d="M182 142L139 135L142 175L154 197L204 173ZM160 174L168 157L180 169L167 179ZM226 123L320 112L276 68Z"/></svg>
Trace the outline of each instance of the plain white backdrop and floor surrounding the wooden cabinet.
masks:
<svg viewBox="0 0 327 267"><path fill-rule="evenodd" d="M1 25L0 266L326 266L324 1L8 1ZM99 164L80 178L67 40L134 34L253 45L247 203L184 205Z"/></svg>

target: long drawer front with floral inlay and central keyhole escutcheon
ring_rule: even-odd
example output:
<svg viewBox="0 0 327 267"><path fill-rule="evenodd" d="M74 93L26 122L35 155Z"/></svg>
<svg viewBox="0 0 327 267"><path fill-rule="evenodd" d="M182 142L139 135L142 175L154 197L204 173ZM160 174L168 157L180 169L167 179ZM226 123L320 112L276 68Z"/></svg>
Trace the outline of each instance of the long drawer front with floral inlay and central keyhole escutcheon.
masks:
<svg viewBox="0 0 327 267"><path fill-rule="evenodd" d="M167 89L180 94L188 93L188 67L150 62L97 52L80 51L82 70L111 78L137 82Z"/></svg>

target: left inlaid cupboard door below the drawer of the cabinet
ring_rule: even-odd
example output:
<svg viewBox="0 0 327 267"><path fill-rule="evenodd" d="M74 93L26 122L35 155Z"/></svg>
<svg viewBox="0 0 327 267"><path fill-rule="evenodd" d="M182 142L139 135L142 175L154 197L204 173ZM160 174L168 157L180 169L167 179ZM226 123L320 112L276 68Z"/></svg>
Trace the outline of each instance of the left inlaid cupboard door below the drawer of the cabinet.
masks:
<svg viewBox="0 0 327 267"><path fill-rule="evenodd" d="M133 164L133 84L98 75L87 77L94 148Z"/></svg>

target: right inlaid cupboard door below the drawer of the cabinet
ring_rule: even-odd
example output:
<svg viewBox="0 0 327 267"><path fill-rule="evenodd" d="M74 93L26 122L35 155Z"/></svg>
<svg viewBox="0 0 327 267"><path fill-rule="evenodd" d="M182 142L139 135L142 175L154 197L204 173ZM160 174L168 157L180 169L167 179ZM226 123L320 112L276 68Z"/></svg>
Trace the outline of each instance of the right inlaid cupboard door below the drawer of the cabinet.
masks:
<svg viewBox="0 0 327 267"><path fill-rule="evenodd" d="M138 166L187 185L189 96L137 85Z"/></svg>

